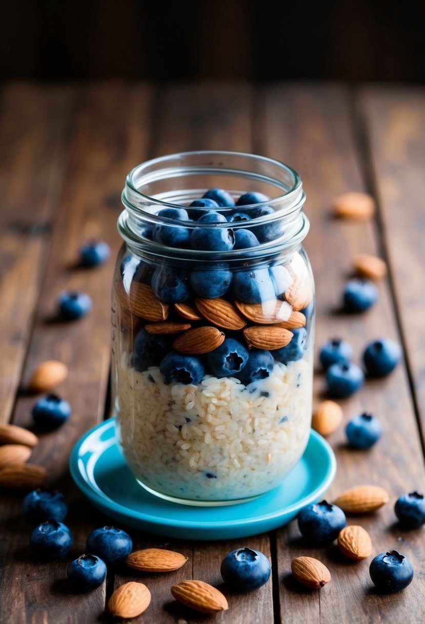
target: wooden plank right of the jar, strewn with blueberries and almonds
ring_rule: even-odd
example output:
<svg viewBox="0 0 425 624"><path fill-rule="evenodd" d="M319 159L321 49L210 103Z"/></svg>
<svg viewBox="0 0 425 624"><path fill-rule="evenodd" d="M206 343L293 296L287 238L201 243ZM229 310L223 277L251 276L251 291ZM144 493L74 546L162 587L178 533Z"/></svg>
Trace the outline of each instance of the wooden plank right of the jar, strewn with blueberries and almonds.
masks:
<svg viewBox="0 0 425 624"><path fill-rule="evenodd" d="M365 315L335 313L341 290L351 271L355 253L378 251L373 223L335 220L330 215L332 200L346 190L362 190L364 181L356 160L350 128L348 95L339 87L310 85L270 87L259 119L264 134L263 152L293 165L303 177L307 193L305 212L311 230L306 241L317 282L317 345L332 336L353 344L355 361L373 338L385 334L399 341L388 284L380 285L380 300ZM395 163L394 163L395 166ZM394 171L397 175L397 170ZM325 388L317 374L315 401ZM278 568L282 579L280 613L282 622L423 622L425 587L424 542L420 532L406 532L394 522L393 504L406 491L421 489L424 483L423 456L409 394L406 369L401 364L388 379L367 381L351 399L341 401L345 422L360 411L373 412L382 422L381 441L369 452L345 446L343 427L330 437L337 454L338 474L326 495L333 500L343 489L358 484L377 484L388 489L390 502L369 517L349 517L349 524L361 524L371 534L373 556L396 548L411 558L416 577L408 590L398 595L378 595L373 590L367 561L347 563L335 547L308 548L300 540L295 523L278 533ZM290 576L290 562L298 555L322 560L330 568L332 582L319 592L304 592Z"/></svg>

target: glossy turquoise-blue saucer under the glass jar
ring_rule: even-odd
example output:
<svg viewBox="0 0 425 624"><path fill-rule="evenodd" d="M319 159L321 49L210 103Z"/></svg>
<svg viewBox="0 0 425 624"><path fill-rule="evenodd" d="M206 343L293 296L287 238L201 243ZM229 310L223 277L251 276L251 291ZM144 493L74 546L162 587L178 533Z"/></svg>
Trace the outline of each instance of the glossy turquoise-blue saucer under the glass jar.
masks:
<svg viewBox="0 0 425 624"><path fill-rule="evenodd" d="M130 527L179 539L221 540L256 535L294 519L319 500L335 477L329 444L310 432L307 449L282 484L249 502L190 507L149 494L128 469L115 441L115 418L90 429L74 446L69 467L79 489L102 512Z"/></svg>

